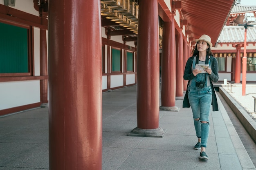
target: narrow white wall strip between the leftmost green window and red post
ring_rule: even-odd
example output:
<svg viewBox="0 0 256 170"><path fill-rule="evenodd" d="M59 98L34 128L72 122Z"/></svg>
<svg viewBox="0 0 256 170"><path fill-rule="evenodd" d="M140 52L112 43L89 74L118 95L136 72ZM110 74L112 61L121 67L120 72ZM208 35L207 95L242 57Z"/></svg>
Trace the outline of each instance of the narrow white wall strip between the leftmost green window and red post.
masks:
<svg viewBox="0 0 256 170"><path fill-rule="evenodd" d="M40 75L40 29L34 27L34 71Z"/></svg>

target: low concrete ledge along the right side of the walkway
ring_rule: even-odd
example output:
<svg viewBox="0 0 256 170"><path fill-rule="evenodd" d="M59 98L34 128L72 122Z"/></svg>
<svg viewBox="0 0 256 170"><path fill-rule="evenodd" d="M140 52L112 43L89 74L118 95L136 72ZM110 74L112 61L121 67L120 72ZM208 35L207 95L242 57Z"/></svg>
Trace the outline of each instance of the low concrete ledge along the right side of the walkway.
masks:
<svg viewBox="0 0 256 170"><path fill-rule="evenodd" d="M226 100L227 104L235 113L236 117L243 124L249 135L254 141L256 141L256 122L250 117L250 115L245 111L245 109L236 102L236 100L225 91L222 87L219 88L219 93Z"/></svg>

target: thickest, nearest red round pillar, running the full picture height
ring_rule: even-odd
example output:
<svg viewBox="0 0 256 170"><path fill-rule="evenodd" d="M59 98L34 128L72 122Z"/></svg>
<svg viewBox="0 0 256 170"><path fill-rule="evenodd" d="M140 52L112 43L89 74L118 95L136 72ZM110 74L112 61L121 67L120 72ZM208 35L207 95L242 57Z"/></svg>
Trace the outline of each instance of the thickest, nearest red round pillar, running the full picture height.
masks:
<svg viewBox="0 0 256 170"><path fill-rule="evenodd" d="M102 169L101 60L100 1L49 1L49 170Z"/></svg>

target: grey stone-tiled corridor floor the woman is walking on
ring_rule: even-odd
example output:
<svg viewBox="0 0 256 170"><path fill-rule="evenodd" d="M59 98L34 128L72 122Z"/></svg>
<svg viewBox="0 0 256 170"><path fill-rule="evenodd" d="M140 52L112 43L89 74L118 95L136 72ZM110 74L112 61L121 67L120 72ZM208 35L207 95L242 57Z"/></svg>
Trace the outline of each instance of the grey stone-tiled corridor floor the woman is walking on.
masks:
<svg viewBox="0 0 256 170"><path fill-rule="evenodd" d="M208 161L200 160L191 108L159 112L162 138L130 137L136 86L103 93L103 170L256 170L227 111L210 117ZM0 170L48 170L48 108L0 117Z"/></svg>

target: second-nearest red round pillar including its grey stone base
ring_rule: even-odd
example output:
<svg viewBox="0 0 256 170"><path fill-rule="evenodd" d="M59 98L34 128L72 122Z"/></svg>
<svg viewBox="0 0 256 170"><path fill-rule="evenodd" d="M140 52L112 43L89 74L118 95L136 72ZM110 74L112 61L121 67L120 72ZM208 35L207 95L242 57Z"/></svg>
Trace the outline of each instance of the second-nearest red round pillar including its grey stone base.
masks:
<svg viewBox="0 0 256 170"><path fill-rule="evenodd" d="M164 135L159 128L159 30L157 0L139 1L137 128L128 135ZM150 29L149 29L150 28ZM132 134L133 133L133 134Z"/></svg>

